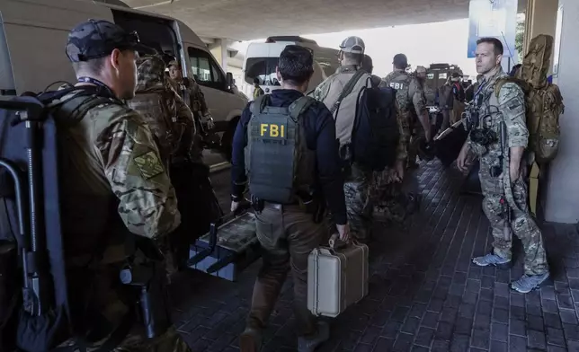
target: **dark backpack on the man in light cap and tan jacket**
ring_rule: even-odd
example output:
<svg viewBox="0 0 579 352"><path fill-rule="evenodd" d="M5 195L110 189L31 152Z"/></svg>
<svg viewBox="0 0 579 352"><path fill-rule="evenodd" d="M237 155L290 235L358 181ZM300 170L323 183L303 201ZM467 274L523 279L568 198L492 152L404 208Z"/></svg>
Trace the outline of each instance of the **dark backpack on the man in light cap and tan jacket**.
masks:
<svg viewBox="0 0 579 352"><path fill-rule="evenodd" d="M358 72L361 72L358 71ZM352 92L358 72L344 87L343 96ZM352 162L375 172L383 171L396 162L400 129L396 116L396 90L377 87L367 78L358 92L356 117L352 128Z"/></svg>

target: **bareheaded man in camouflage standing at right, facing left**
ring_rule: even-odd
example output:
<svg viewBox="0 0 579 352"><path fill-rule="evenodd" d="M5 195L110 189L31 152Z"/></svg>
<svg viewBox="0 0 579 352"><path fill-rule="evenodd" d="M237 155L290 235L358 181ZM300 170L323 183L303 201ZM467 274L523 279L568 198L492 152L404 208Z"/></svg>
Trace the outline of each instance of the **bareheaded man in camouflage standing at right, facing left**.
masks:
<svg viewBox="0 0 579 352"><path fill-rule="evenodd" d="M484 75L477 90L474 109L478 126L473 127L463 145L457 164L467 171L468 154L477 154L483 210L493 229L493 252L473 259L478 266L508 266L512 259L511 231L521 239L525 251L525 274L511 288L529 293L549 277L543 238L530 216L525 183L527 161L524 155L529 130L525 122L525 97L514 83L504 83L501 67L503 44L494 38L477 41L477 73ZM502 85L498 85L502 84ZM498 92L497 92L498 91Z"/></svg>

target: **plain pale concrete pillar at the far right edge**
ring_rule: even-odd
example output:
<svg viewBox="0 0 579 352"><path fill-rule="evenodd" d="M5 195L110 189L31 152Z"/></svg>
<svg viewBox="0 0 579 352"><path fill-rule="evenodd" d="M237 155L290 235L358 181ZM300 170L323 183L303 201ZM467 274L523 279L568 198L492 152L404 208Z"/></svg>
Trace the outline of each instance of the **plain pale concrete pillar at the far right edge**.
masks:
<svg viewBox="0 0 579 352"><path fill-rule="evenodd" d="M559 0L559 4L563 21L559 74L554 83L563 94L565 114L560 119L559 153L548 172L544 215L547 221L575 224L579 221L579 100L575 98L579 87L579 1Z"/></svg>

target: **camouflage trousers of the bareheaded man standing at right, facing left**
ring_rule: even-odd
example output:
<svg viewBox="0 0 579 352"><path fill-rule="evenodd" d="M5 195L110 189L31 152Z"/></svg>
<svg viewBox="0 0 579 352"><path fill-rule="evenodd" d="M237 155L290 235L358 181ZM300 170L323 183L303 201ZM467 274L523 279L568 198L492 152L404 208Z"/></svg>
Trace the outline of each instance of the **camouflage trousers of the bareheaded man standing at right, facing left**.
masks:
<svg viewBox="0 0 579 352"><path fill-rule="evenodd" d="M490 175L493 163L481 159L480 185L485 198L483 210L493 230L494 253L503 258L512 258L512 237L514 233L521 239L525 251L525 273L528 275L544 274L548 271L547 254L539 226L530 216L528 190L522 177L512 184L512 195L517 208L512 209L510 230L505 233L506 209L503 207L503 180ZM507 234L508 233L508 234Z"/></svg>

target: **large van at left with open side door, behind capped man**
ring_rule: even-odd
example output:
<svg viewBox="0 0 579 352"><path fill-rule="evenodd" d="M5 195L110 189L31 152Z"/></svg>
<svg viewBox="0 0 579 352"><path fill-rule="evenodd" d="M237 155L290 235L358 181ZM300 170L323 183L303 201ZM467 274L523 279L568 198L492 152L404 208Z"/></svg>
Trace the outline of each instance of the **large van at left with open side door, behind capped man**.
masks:
<svg viewBox="0 0 579 352"><path fill-rule="evenodd" d="M110 0L109 0L110 1ZM183 75L196 75L216 129L230 148L237 121L247 104L207 46L183 22L160 14L87 0L0 0L0 95L42 92L55 81L76 82L65 54L67 34L89 18L137 31L141 42L178 57ZM56 89L57 86L53 87ZM227 149L228 150L228 149Z"/></svg>

